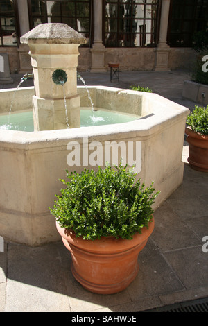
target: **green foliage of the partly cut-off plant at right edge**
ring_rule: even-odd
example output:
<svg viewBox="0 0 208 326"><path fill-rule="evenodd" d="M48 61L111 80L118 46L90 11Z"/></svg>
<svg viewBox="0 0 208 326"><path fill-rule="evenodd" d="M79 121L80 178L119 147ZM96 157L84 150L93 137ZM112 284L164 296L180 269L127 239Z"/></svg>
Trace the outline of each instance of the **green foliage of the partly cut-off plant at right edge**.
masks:
<svg viewBox="0 0 208 326"><path fill-rule="evenodd" d="M187 125L201 135L208 135L208 105L207 108L195 105L193 112L187 117Z"/></svg>

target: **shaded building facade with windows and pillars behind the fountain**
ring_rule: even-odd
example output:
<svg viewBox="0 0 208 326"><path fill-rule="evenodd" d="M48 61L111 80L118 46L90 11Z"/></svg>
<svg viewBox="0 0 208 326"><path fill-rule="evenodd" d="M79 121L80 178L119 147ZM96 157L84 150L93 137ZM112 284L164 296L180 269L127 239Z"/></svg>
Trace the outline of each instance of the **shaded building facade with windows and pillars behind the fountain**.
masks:
<svg viewBox="0 0 208 326"><path fill-rule="evenodd" d="M82 33L79 71L189 68L193 35L208 30L208 0L1 0L0 54L10 73L31 71L20 37L37 24L62 22ZM208 54L208 53L207 53Z"/></svg>

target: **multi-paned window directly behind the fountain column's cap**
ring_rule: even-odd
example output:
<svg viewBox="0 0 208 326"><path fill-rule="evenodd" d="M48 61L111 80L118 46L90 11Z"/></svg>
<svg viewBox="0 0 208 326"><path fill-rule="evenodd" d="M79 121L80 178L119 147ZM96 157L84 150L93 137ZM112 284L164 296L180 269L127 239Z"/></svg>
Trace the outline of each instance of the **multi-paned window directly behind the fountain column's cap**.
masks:
<svg viewBox="0 0 208 326"><path fill-rule="evenodd" d="M31 29L38 24L64 23L91 42L91 0L28 0Z"/></svg>

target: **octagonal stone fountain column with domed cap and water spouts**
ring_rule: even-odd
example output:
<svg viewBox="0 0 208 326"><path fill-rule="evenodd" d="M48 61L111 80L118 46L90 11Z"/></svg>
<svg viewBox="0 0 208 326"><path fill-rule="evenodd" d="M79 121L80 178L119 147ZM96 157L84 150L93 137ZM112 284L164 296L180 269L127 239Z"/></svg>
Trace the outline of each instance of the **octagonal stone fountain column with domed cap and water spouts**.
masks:
<svg viewBox="0 0 208 326"><path fill-rule="evenodd" d="M67 124L70 128L80 127L76 68L78 46L86 39L67 24L48 23L33 28L21 37L21 42L30 48L33 67L34 130L66 129ZM54 83L52 76L58 70L67 74L64 85Z"/></svg>

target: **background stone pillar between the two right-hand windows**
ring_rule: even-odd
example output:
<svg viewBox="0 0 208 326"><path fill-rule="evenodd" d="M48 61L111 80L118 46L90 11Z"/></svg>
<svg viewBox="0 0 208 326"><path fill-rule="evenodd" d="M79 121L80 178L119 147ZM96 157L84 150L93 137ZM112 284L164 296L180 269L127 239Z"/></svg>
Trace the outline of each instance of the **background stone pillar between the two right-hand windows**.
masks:
<svg viewBox="0 0 208 326"><path fill-rule="evenodd" d="M170 0L162 0L159 42L155 50L155 71L168 71L168 56L170 47L167 45L168 17Z"/></svg>

